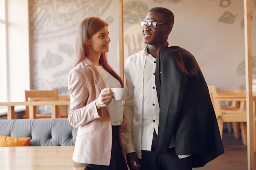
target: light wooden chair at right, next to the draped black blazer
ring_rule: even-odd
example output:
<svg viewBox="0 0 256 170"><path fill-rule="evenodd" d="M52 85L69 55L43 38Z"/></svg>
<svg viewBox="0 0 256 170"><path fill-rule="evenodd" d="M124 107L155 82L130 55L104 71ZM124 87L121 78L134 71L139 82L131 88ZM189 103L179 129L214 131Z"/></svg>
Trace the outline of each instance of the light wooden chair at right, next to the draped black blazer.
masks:
<svg viewBox="0 0 256 170"><path fill-rule="evenodd" d="M215 114L218 120L218 126L220 129L220 136L222 137L223 134L223 123L227 122L227 123L233 123L234 124L239 124L240 123L240 128L241 128L241 135L242 135L242 141L243 144L247 144L247 129L246 129L246 110L244 110L244 103L246 101L246 98L244 99L244 101L240 101L240 106L239 106L239 110L225 110L223 108L221 108L220 106L220 101L218 100L218 93L216 90L216 86L215 85L208 85L209 88L209 93L211 96L211 102L213 104L214 110L215 110ZM237 102L237 101L236 101ZM239 122L239 123L237 123ZM235 133L239 133L239 128L237 129L236 126L233 130L235 130Z"/></svg>

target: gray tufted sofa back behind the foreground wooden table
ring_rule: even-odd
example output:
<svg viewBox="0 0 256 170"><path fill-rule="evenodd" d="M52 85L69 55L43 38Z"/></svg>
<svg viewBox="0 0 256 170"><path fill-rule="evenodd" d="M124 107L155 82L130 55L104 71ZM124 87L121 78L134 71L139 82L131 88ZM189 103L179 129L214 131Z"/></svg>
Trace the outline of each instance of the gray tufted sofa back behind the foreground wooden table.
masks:
<svg viewBox="0 0 256 170"><path fill-rule="evenodd" d="M76 133L67 118L0 119L0 135L31 137L29 146L74 146Z"/></svg>

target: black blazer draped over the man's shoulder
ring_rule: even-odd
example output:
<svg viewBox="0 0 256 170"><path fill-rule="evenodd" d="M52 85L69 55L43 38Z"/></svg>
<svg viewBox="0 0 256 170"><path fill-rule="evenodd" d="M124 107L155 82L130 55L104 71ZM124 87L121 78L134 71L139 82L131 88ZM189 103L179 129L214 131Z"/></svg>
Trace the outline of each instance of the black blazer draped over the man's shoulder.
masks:
<svg viewBox="0 0 256 170"><path fill-rule="evenodd" d="M166 153L174 136L176 155L192 155L193 167L223 154L207 83L194 56L178 46L162 49L155 75L160 108L156 152Z"/></svg>

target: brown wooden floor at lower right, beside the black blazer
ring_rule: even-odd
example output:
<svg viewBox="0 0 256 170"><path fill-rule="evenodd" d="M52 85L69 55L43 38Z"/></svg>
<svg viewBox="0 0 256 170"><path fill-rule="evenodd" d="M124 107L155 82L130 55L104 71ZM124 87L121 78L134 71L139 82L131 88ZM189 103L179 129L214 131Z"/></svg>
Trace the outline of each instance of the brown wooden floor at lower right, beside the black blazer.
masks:
<svg viewBox="0 0 256 170"><path fill-rule="evenodd" d="M242 139L236 139L231 133L223 133L223 146L225 153L207 163L202 168L193 170L248 170L247 146L242 144ZM256 152L254 152L254 169L256 169Z"/></svg>

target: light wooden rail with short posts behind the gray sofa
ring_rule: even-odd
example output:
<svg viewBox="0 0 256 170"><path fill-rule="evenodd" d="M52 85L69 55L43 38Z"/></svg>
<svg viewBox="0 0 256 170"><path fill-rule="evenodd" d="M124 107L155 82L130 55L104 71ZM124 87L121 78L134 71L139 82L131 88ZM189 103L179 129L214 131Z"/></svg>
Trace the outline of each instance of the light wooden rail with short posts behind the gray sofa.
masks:
<svg viewBox="0 0 256 170"><path fill-rule="evenodd" d="M34 119L36 113L34 113L34 106L52 106L52 118L58 118L60 115L56 114L56 106L70 105L70 100L49 100L49 101L25 101L25 102L0 102L0 106L7 106L7 119L15 119L15 106L29 106L29 119Z"/></svg>

